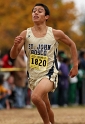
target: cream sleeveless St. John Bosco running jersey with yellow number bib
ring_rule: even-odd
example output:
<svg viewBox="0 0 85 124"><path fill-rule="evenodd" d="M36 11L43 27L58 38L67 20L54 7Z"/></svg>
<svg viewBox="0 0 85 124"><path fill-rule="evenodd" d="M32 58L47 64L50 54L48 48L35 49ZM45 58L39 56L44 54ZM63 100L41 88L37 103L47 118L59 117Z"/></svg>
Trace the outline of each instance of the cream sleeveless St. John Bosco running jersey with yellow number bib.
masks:
<svg viewBox="0 0 85 124"><path fill-rule="evenodd" d="M58 74L57 52L58 42L55 40L52 28L48 27L44 37L35 37L31 28L27 29L24 49L27 60L28 78L38 79Z"/></svg>

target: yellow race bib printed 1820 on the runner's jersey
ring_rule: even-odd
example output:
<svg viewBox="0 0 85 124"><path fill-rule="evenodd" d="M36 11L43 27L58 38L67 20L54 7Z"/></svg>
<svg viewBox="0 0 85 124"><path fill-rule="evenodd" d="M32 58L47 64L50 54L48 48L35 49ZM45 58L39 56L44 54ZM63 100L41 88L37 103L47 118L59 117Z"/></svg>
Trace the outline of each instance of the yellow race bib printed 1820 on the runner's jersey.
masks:
<svg viewBox="0 0 85 124"><path fill-rule="evenodd" d="M42 55L30 54L30 67L37 70L46 70L48 57Z"/></svg>

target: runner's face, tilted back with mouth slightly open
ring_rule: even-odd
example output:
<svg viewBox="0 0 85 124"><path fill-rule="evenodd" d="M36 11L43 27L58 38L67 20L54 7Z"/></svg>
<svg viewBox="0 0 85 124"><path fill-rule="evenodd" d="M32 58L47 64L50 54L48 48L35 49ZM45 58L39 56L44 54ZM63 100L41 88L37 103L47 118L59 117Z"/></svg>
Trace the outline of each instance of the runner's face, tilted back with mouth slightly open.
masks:
<svg viewBox="0 0 85 124"><path fill-rule="evenodd" d="M32 12L33 22L44 22L47 16L45 16L45 10L42 6L35 6Z"/></svg>

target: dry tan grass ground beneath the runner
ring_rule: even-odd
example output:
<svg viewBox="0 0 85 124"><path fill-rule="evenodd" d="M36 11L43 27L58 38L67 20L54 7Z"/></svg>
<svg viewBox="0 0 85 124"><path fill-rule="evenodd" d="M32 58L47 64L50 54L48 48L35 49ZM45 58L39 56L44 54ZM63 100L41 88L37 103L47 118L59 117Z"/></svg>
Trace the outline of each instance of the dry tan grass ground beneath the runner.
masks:
<svg viewBox="0 0 85 124"><path fill-rule="evenodd" d="M85 124L85 107L52 108L55 124ZM0 124L43 124L36 108L0 110Z"/></svg>

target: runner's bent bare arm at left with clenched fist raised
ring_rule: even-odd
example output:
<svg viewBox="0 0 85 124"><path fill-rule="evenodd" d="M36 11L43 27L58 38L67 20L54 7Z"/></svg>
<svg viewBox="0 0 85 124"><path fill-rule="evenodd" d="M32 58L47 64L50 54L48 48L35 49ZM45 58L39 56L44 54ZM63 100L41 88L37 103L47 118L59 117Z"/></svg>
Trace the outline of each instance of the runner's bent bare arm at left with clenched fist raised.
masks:
<svg viewBox="0 0 85 124"><path fill-rule="evenodd" d="M22 49L22 46L24 45L25 37L26 37L26 30L21 32L19 36L15 37L14 44L10 51L10 57L12 59L15 59L18 56L20 50Z"/></svg>

